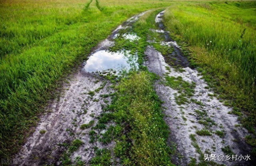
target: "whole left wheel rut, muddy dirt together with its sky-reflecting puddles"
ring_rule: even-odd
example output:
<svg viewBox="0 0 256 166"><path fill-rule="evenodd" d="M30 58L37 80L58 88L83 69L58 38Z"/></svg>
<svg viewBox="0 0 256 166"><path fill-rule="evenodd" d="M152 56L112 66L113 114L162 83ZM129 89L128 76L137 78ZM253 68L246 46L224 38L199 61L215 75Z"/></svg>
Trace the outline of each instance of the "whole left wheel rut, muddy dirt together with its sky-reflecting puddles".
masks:
<svg viewBox="0 0 256 166"><path fill-rule="evenodd" d="M111 101L110 97L102 97L102 95L114 93L114 89L111 88L112 83L97 72L110 73L114 70L138 67L135 63L136 57L133 59L124 51L112 53L108 48L114 44L114 38L119 30L129 28L143 14L145 12L118 26L106 40L91 51L82 69L70 75L69 83L63 85L62 95L49 104L46 113L40 117L38 126L34 128L34 133L15 155L13 166L62 165L61 158L68 150L67 145L72 144L75 139L83 143L69 156L73 164L79 157L85 165L90 165L90 160L95 156L95 147L114 148L114 141L109 144L99 141L90 143L89 131L97 124L97 117L103 113L104 105ZM138 40L133 34L126 34L124 38ZM89 124L91 121L94 121L91 127L80 128L82 124ZM104 131L96 130L96 132L101 135ZM116 158L115 163L118 161Z"/></svg>

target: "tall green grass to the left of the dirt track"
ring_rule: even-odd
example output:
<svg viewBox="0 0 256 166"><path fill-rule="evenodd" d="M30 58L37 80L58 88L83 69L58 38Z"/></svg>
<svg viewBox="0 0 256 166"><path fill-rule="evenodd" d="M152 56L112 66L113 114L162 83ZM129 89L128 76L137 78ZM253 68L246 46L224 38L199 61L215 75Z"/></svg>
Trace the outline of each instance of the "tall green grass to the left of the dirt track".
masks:
<svg viewBox="0 0 256 166"><path fill-rule="evenodd" d="M0 158L18 150L60 78L99 41L130 16L169 4L0 0Z"/></svg>

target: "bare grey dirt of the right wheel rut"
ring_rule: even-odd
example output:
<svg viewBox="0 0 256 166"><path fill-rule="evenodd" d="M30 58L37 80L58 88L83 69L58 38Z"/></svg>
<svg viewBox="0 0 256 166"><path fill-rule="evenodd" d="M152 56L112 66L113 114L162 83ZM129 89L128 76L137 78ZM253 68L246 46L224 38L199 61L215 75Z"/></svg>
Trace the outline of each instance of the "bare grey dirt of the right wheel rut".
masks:
<svg viewBox="0 0 256 166"><path fill-rule="evenodd" d="M172 41L167 35L168 32L164 31L164 26L161 22L163 12L156 16L156 23L159 23L160 30L156 32L164 33L164 44L168 44L170 47L174 47L175 51L179 54L180 66L182 70L177 70L177 65L168 65L165 59L171 58L174 55L170 54L165 57L152 46L148 46L145 54L147 55L147 61L145 65L149 71L158 74L161 80L155 83L155 90L160 99L164 101L162 104L164 108L165 121L170 127L169 141L176 143L178 154L174 156L174 164L186 166L191 161L191 158L199 159L200 153L195 148L195 144L198 144L201 154L216 155L215 162L219 164L225 164L227 166L239 165L253 165L254 161L231 161L228 160L228 156L225 155L222 148L229 146L234 154L238 156L246 156L249 154L251 147L246 144L244 136L248 132L241 127L237 121L236 115L228 114L232 111L232 108L226 107L214 97L214 93L208 90L207 84L202 80L202 76L195 69L188 67L188 61L186 57L182 57L179 46L175 41ZM169 56L169 57L168 57ZM184 67L184 68L183 68ZM175 101L175 97L179 92L171 87L162 83L165 81L165 77L182 77L182 80L188 83L195 83L194 95L191 97L192 101L185 104L178 105ZM190 100L191 100L190 99ZM194 100L193 100L194 99ZM202 113L198 115L197 113ZM204 121L206 120L206 121ZM205 125L204 122L211 125ZM207 129L210 132L210 136L200 136L196 134L196 131ZM219 136L216 131L224 132L224 136ZM194 134L196 141L192 141L191 134ZM225 160L221 161L218 156L225 156ZM206 159L206 158L205 158ZM250 156L250 159L253 159Z"/></svg>

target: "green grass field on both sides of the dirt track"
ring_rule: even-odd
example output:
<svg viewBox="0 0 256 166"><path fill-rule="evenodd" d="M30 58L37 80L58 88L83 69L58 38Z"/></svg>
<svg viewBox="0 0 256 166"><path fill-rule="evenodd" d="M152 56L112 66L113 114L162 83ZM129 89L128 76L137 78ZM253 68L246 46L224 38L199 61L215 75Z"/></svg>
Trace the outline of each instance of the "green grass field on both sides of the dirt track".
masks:
<svg viewBox="0 0 256 166"><path fill-rule="evenodd" d="M18 151L52 91L99 41L131 16L157 8L167 8L172 37L187 43L191 64L222 99L245 111L241 120L254 132L256 2L0 0L0 158Z"/></svg>

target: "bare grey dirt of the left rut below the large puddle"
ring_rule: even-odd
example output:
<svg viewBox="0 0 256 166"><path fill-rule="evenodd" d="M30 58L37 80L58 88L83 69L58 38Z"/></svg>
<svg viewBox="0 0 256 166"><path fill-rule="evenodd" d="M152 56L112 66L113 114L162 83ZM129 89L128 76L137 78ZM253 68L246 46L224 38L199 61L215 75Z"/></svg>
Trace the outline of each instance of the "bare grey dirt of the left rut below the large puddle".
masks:
<svg viewBox="0 0 256 166"><path fill-rule="evenodd" d="M91 97L88 93L104 85L104 81L106 82L104 88ZM72 158L83 154L82 160L88 164L90 158L94 156L93 147L96 143L86 143L90 139L88 135L90 129L81 130L80 125L88 124L92 120L97 122L95 117L102 113L101 105L104 104L103 100L106 100L100 95L112 92L109 86L108 81L91 73L82 71L75 73L70 79L70 84L64 87L66 90L63 95L47 109L49 113L40 117L40 123L34 134L28 138L16 156L19 160L16 165L40 166L48 163L59 165L60 155L66 149L58 144L70 143L75 138L79 138L84 144L72 154ZM45 134L40 134L42 130L46 130ZM97 146L103 147L100 144Z"/></svg>

